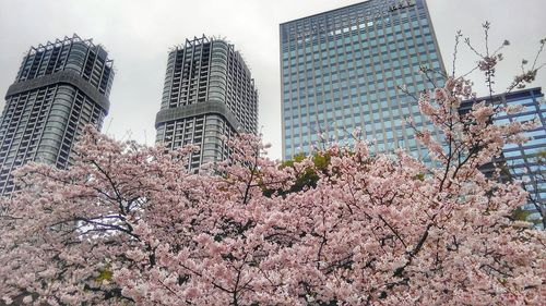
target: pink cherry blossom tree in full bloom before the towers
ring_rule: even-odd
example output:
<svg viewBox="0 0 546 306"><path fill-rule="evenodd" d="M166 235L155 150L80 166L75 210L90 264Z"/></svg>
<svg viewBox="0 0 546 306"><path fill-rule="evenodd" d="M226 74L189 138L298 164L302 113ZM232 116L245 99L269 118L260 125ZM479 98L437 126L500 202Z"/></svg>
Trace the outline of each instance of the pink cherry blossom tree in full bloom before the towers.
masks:
<svg viewBox="0 0 546 306"><path fill-rule="evenodd" d="M366 142L288 167L251 135L200 173L87 128L69 170L29 164L1 200L0 296L36 305L541 304L546 235L518 182L479 168L533 123L491 124L464 78L424 93L436 166ZM311 175L312 174L312 175ZM306 176L307 175L307 176ZM312 176L312 184L298 179ZM294 186L297 185L297 188Z"/></svg>

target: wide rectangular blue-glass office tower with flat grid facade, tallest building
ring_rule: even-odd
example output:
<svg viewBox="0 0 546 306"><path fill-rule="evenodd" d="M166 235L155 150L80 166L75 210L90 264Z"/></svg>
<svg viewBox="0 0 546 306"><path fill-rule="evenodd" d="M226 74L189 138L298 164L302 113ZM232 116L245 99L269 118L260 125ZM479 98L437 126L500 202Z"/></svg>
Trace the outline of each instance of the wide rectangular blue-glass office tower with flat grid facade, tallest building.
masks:
<svg viewBox="0 0 546 306"><path fill-rule="evenodd" d="M283 158L361 133L376 151L400 147L429 160L402 120L436 131L412 97L441 86L446 71L424 0L369 0L280 30Z"/></svg>

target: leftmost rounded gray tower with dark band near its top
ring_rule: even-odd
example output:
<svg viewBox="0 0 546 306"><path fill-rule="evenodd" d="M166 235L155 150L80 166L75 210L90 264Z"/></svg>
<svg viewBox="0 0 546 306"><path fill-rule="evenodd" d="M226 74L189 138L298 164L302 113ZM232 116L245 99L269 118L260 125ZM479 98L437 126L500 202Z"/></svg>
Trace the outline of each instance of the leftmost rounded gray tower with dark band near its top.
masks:
<svg viewBox="0 0 546 306"><path fill-rule="evenodd" d="M28 161L68 167L85 124L100 128L114 78L106 50L74 34L31 47L5 94L0 119L0 194Z"/></svg>

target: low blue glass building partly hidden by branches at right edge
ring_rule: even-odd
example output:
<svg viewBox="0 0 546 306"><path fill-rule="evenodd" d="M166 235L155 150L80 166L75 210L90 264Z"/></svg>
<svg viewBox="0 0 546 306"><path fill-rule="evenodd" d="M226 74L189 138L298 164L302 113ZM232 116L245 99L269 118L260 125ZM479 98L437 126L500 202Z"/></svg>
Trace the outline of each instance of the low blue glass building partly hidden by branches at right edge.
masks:
<svg viewBox="0 0 546 306"><path fill-rule="evenodd" d="M500 158L494 162L505 168L503 176L523 182L523 187L529 192L529 201L523 206L530 212L527 220L539 219L537 205L546 206L546 103L541 87L467 100L461 103L460 113L468 112L475 101L522 107L520 112L496 114L494 124L538 122L536 128L524 133L527 142L506 145Z"/></svg>

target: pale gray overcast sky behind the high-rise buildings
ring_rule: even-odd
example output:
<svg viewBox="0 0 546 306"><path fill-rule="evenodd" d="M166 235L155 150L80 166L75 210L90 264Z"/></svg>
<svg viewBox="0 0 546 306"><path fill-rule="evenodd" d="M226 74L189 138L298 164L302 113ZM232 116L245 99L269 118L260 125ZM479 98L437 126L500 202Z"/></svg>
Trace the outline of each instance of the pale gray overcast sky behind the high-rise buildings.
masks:
<svg viewBox="0 0 546 306"><path fill-rule="evenodd" d="M103 132L117 139L131 137L152 145L159 109L169 47L186 38L221 36L235 45L259 90L260 125L272 144L270 156L281 158L281 85L278 24L323 11L358 3L358 0L0 0L0 93L13 83L22 57L31 46L76 33L93 38L109 51L116 76L110 112ZM503 39L511 46L498 70L498 91L518 71L521 59L531 62L538 40L546 37L545 0L428 0L432 24L448 71L456 29L482 42L482 23L491 22L495 47ZM482 45L478 45L482 46ZM462 49L459 70L475 62ZM541 57L546 62L546 56ZM546 85L546 70L533 86ZM475 83L483 77L475 75ZM478 94L485 87L476 87ZM1 99L0 108L3 109Z"/></svg>

